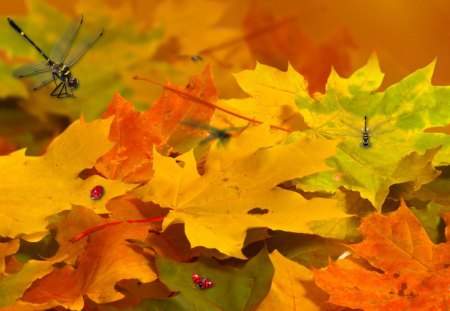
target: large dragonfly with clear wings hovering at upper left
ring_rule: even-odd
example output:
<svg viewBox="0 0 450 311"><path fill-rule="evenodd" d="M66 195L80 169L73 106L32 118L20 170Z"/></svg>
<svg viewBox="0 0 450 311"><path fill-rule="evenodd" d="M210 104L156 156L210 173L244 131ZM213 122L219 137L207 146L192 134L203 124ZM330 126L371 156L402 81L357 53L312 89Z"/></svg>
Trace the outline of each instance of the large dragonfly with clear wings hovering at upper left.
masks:
<svg viewBox="0 0 450 311"><path fill-rule="evenodd" d="M80 16L77 23L71 24L61 35L59 41L55 44L50 57L48 57L34 42L28 37L16 22L11 18L7 18L9 25L17 31L25 40L28 41L41 56L45 62L37 62L33 64L23 65L13 72L16 78L34 76L36 85L33 90L37 90L50 82L55 82L55 89L51 92L51 96L57 98L74 97L73 90L77 89L80 81L72 75L70 68L74 66L89 48L97 42L103 35L103 30L91 36L80 44L70 57L67 58L70 47L83 23L83 16ZM67 61L66 61L67 58ZM57 82L58 81L58 82Z"/></svg>

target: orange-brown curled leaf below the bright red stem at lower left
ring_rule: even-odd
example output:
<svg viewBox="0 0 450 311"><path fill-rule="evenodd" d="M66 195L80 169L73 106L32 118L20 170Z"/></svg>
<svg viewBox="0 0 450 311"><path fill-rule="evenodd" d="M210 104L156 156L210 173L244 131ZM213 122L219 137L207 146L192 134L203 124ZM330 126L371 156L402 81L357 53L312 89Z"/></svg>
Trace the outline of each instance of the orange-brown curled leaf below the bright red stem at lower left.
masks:
<svg viewBox="0 0 450 311"><path fill-rule="evenodd" d="M75 208L67 217L67 225L61 228L68 228L65 231L70 232L80 230L81 226L90 224L92 219L96 219L97 223L101 222L101 218L92 211ZM78 246L77 252L71 251L73 256L77 256L75 266L55 267L49 274L33 282L21 300L30 303L54 300L65 308L80 310L83 306L83 295L87 295L96 303L108 303L123 298L124 295L115 289L118 281L134 278L151 282L156 279L156 274L148 264L149 259L125 241L143 240L147 234L148 225L128 223L91 234L85 248ZM68 235L69 232L63 233L65 237ZM63 243L70 242L65 240ZM64 250L67 251L68 248L65 247Z"/></svg>

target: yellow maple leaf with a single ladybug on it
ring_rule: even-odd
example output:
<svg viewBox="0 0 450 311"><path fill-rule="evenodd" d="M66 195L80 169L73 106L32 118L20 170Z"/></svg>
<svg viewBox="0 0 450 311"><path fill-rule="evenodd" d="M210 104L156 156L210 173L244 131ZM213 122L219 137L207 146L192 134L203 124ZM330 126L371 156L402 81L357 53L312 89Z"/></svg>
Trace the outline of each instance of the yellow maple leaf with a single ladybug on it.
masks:
<svg viewBox="0 0 450 311"><path fill-rule="evenodd" d="M86 180L79 177L111 148L106 138L110 122L76 121L40 157L27 157L23 150L0 157L0 236L25 235L24 238L39 240L46 233L48 216L69 210L72 204L107 213L105 205L110 198L134 187L99 176ZM96 185L103 185L106 191L101 200L93 201L90 191Z"/></svg>

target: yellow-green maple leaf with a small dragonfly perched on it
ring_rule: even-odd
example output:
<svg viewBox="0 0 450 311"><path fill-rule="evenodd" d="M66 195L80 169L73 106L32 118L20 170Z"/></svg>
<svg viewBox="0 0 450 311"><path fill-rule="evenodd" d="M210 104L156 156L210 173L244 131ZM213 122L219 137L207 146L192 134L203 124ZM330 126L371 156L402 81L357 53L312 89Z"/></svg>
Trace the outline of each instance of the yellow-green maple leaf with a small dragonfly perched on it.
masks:
<svg viewBox="0 0 450 311"><path fill-rule="evenodd" d="M431 164L448 162L450 136L423 131L448 122L443 111L447 109L444 98L450 95L450 88L432 86L432 71L430 65L385 92L375 92L383 75L377 59L372 57L348 79L333 71L327 93L318 101L297 97L299 110L313 135L343 139L336 156L328 162L337 169L339 181L331 181L329 173L319 174L310 181L300 181L299 187L305 184L312 191L314 185L310 182L318 184L317 190L322 184L344 186L360 192L380 209L391 185L413 182L417 190L436 178L438 172ZM369 128L379 130L378 134L369 132L369 148L360 146L362 132L358 133L358 128L364 126L364 116ZM436 149L440 145L442 149Z"/></svg>

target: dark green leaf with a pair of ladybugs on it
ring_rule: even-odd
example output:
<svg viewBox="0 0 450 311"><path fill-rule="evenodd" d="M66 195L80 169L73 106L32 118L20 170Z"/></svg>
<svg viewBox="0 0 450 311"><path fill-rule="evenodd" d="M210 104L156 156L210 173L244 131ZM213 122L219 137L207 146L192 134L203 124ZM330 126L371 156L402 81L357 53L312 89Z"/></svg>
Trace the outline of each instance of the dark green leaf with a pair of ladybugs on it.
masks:
<svg viewBox="0 0 450 311"><path fill-rule="evenodd" d="M267 295L273 276L273 266L266 250L240 269L218 264L206 257L200 257L194 263L157 257L156 265L161 280L180 294L170 299L143 300L139 305L142 310L255 310ZM192 281L193 273L208 278L214 286L199 289Z"/></svg>

